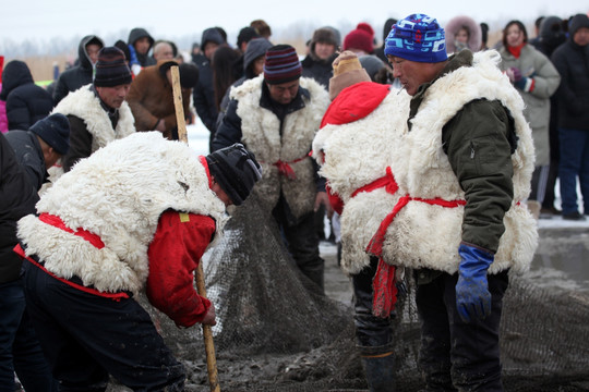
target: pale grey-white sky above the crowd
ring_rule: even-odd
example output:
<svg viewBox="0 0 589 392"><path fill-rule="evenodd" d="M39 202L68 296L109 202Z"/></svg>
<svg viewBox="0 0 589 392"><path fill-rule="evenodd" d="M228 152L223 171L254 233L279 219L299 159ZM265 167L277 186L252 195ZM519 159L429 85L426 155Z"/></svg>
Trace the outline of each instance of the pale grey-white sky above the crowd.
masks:
<svg viewBox="0 0 589 392"><path fill-rule="evenodd" d="M444 25L456 15L466 14L477 22L501 28L512 20L533 21L539 15L568 17L587 13L589 4L579 0L297 0L279 2L267 0L3 0L0 24L0 53L2 40L21 42L24 39L48 42L55 38L68 39L87 34L120 38L133 27L146 28L154 38L193 35L204 28L221 26L233 42L239 29L254 19L265 20L273 29L293 28L298 25L335 27L369 22L382 35L388 17L400 19L420 12L434 16ZM387 7L387 3L390 5ZM342 35L347 32L341 32ZM232 39L231 39L232 38ZM113 42L106 42L111 45Z"/></svg>

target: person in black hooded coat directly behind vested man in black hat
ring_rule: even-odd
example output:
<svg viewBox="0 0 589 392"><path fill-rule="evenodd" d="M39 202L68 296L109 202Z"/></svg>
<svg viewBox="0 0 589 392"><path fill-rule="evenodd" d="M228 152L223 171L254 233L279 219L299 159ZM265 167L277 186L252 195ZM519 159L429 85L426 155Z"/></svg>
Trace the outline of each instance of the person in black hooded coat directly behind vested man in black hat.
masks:
<svg viewBox="0 0 589 392"><path fill-rule="evenodd" d="M75 91L80 87L92 83L94 64L98 60L98 52L104 46L105 42L95 35L87 35L82 38L77 47L79 64L59 75L53 90L53 106L57 106L70 91ZM28 127L25 130L28 130Z"/></svg>

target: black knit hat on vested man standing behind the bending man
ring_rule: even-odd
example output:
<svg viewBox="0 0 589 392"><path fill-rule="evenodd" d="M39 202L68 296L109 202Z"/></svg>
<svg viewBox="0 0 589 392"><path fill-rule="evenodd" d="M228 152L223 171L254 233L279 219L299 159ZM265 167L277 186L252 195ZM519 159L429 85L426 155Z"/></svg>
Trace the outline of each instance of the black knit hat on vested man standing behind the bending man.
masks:
<svg viewBox="0 0 589 392"><path fill-rule="evenodd" d="M124 53L116 47L106 47L98 52L96 62L96 87L115 87L130 84L132 81L131 70L127 65Z"/></svg>

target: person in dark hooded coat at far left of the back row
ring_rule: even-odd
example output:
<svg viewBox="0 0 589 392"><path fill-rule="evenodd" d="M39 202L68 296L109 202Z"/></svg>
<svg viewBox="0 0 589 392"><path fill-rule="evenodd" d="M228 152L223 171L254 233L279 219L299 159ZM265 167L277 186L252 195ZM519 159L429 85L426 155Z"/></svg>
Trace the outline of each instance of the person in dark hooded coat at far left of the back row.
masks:
<svg viewBox="0 0 589 392"><path fill-rule="evenodd" d="M0 99L7 101L9 131L28 130L53 107L49 93L33 82L28 66L20 60L13 60L4 68Z"/></svg>

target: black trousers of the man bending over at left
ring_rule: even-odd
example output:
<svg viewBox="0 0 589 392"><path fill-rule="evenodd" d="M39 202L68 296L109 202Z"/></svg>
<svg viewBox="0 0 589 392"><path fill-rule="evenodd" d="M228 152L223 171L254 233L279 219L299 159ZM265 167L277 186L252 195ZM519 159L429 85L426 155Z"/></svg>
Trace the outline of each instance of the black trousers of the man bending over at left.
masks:
<svg viewBox="0 0 589 392"><path fill-rule="evenodd" d="M88 294L24 261L31 319L60 391L182 391L185 372L133 298Z"/></svg>

